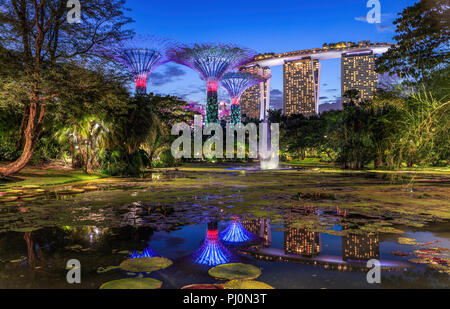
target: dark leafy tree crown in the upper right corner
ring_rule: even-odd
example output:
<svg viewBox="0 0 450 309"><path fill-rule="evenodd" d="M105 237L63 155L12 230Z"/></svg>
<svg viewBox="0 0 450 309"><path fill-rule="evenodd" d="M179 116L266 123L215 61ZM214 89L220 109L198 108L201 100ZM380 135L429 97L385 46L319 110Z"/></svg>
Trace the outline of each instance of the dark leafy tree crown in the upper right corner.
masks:
<svg viewBox="0 0 450 309"><path fill-rule="evenodd" d="M449 8L448 0L420 0L403 10L394 21L397 45L377 59L377 71L424 82L448 67Z"/></svg>

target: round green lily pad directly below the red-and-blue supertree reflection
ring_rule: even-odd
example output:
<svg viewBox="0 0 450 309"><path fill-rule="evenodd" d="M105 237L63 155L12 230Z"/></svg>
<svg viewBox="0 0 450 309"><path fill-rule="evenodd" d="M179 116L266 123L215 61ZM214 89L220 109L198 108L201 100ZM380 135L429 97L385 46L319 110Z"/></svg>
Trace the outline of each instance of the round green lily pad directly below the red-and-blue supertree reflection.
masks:
<svg viewBox="0 0 450 309"><path fill-rule="evenodd" d="M211 268L208 273L214 278L223 280L256 279L261 276L258 267L241 263L219 265Z"/></svg>

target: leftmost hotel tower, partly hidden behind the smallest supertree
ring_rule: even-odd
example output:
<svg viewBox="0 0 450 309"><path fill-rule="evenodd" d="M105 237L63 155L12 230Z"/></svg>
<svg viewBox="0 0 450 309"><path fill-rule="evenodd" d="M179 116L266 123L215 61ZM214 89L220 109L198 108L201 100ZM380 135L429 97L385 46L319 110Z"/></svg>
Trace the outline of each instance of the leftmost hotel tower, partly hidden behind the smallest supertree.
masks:
<svg viewBox="0 0 450 309"><path fill-rule="evenodd" d="M259 65L251 66L241 70L263 77L270 76L272 70ZM270 109L270 78L264 83L255 85L244 92L241 97L241 111L243 119L264 120Z"/></svg>

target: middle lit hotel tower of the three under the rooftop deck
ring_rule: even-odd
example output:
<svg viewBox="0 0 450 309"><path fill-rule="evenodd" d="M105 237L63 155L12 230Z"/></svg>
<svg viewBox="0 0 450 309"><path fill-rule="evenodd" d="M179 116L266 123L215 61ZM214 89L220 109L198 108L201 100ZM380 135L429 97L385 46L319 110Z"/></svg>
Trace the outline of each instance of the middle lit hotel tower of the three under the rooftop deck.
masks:
<svg viewBox="0 0 450 309"><path fill-rule="evenodd" d="M285 115L319 113L319 60L304 58L286 61L283 66L283 111Z"/></svg>

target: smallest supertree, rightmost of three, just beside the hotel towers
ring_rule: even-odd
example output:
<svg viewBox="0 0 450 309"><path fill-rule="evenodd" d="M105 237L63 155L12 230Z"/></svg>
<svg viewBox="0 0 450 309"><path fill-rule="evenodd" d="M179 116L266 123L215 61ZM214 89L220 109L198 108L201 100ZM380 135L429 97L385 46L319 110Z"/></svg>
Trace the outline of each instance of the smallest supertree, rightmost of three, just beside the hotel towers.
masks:
<svg viewBox="0 0 450 309"><path fill-rule="evenodd" d="M221 86L224 88L231 98L231 123L241 123L241 96L244 92L259 84L270 76L259 76L250 73L230 72L224 75Z"/></svg>

